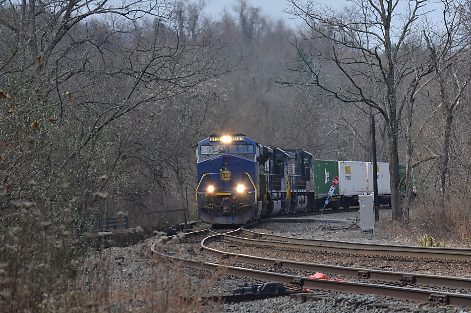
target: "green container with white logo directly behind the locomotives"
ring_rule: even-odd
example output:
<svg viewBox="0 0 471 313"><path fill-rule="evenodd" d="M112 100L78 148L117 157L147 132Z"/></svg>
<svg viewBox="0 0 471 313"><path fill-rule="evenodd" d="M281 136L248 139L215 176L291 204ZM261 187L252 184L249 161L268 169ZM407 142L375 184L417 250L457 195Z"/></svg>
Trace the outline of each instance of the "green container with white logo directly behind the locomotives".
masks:
<svg viewBox="0 0 471 313"><path fill-rule="evenodd" d="M314 188L318 198L327 197L334 177L339 176L339 161L314 159ZM339 186L335 187L332 196L339 195Z"/></svg>

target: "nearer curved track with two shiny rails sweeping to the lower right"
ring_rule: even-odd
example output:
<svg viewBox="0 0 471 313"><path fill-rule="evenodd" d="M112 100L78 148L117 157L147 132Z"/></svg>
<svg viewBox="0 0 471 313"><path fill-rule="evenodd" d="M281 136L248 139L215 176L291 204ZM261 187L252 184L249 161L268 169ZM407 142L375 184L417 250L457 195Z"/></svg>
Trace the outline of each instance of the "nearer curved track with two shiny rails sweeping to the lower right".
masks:
<svg viewBox="0 0 471 313"><path fill-rule="evenodd" d="M198 235L207 234L209 230L203 232L198 232ZM242 233L241 230L233 231L232 233ZM247 233L245 233L247 234ZM196 234L189 233L189 236L194 236ZM419 301L424 303L434 303L434 304L447 304L457 307L467 307L471 308L471 296L464 293L457 292L443 292L435 291L429 289L418 289L411 288L412 285L426 285L426 286L442 286L447 288L458 288L471 290L471 279L469 278L459 278L452 276L434 276L434 275L423 275L423 274L410 274L406 272L390 272L390 271L380 271L380 270L370 270L370 269L361 269L353 267L342 267L342 266L333 266L333 265L323 265L323 264L309 264L304 262L296 261L287 261L287 260L275 260L268 258L260 258L248 255L241 255L235 253L228 253L225 251L219 251L213 248L207 247L211 242L220 240L221 238L238 238L231 236L229 234L216 234L207 236L201 241L201 249L204 252L217 256L222 260L237 261L237 262L247 262L252 264L260 264L264 267L269 267L268 270L260 270L253 268L244 268L240 266L223 266L221 264L216 264L212 262L202 262L196 260L189 260L185 258L176 258L168 255L162 255L165 258L172 258L181 262L184 266L204 269L204 270L219 270L224 271L230 275L237 275L242 277L249 277L252 279L258 279L262 281L276 281L289 286L297 286L303 289L311 290L330 290L330 291L339 291L339 292L352 292L352 293L363 293L363 294L376 294L385 297L393 297L398 299L406 299ZM290 238L290 237L284 237ZM244 239L244 238L242 238ZM246 238L245 238L246 239ZM279 238L278 238L279 239ZM298 240L298 239L296 239ZM250 242L250 241L249 241ZM265 241L266 243L266 241ZM155 243L152 246L152 251L155 250ZM277 247L281 245L286 247L286 244L293 244L289 242L272 242L271 247ZM296 245L299 245L296 243ZM310 243L308 244L310 245ZM384 245L383 245L384 246ZM338 247L337 247L338 248ZM341 247L342 248L342 247ZM349 249L352 249L350 247ZM395 251L397 252L397 251ZM377 283L365 283L365 282L349 282L349 281L334 281L334 280L323 280L323 279L309 279L306 276L295 275L292 273L286 273L287 269L293 269L303 272L324 272L332 273L336 275L344 275L351 277L359 277L364 280L369 281L388 281L393 285L387 284L377 284ZM275 272L275 270L277 272ZM285 271L285 273L280 273L279 271ZM462 292L462 291L460 291Z"/></svg>

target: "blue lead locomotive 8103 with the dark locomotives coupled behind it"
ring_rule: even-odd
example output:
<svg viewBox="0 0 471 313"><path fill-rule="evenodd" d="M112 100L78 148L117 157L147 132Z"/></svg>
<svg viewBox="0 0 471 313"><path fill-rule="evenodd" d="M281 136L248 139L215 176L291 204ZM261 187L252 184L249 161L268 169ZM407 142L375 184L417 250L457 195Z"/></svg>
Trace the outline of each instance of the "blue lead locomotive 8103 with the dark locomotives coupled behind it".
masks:
<svg viewBox="0 0 471 313"><path fill-rule="evenodd" d="M313 157L303 150L213 134L198 143L197 157L196 207L206 223L242 225L313 203Z"/></svg>

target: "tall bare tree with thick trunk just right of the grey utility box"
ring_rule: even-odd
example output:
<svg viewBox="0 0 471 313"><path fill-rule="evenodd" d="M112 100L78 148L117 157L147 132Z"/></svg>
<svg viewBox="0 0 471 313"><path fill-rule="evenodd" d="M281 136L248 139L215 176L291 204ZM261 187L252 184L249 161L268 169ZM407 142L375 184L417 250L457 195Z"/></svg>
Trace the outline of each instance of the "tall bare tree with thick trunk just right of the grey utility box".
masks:
<svg viewBox="0 0 471 313"><path fill-rule="evenodd" d="M311 73L312 79L283 83L316 86L323 94L354 104L365 113L362 105L381 114L388 127L392 217L401 220L398 145L405 103L399 99L405 79L414 73L410 53L419 52L420 36L413 26L425 0L409 1L402 10L398 0L353 0L340 12L312 1L290 2L290 13L309 28L293 43L304 66L290 68ZM332 49L323 47L326 41ZM336 66L334 73L323 71L322 66L329 63ZM423 70L421 65L417 68ZM332 74L341 79L333 81Z"/></svg>

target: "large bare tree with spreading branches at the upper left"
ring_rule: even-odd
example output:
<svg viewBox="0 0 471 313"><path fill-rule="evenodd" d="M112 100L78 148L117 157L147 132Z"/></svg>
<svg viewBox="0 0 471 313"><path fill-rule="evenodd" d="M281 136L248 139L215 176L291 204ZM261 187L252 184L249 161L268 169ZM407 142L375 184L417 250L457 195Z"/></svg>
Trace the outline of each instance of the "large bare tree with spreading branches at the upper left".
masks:
<svg viewBox="0 0 471 313"><path fill-rule="evenodd" d="M158 109L237 63L201 31L198 10L182 13L173 1L0 4L5 208L29 197L32 179L57 211L59 195L83 196L88 208L90 191L129 186L130 176L117 174L139 137L126 134L136 123L127 116Z"/></svg>

